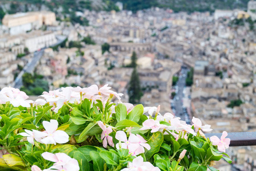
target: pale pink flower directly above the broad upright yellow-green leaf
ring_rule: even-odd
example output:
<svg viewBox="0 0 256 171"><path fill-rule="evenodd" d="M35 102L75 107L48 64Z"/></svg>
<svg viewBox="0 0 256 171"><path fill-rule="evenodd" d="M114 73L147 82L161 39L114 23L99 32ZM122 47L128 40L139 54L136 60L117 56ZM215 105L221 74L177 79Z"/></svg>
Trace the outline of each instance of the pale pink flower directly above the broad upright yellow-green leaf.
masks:
<svg viewBox="0 0 256 171"><path fill-rule="evenodd" d="M152 129L151 130L152 133L157 131L162 132L163 129L167 127L166 125L160 124L158 120L153 120L153 119L145 120L142 125L143 127L140 128L140 130Z"/></svg>

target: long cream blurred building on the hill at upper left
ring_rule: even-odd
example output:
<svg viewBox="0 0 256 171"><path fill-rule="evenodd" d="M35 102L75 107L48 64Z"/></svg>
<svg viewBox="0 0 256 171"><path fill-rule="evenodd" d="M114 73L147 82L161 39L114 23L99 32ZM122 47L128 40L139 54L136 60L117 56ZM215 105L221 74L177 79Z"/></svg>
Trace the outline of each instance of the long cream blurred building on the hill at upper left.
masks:
<svg viewBox="0 0 256 171"><path fill-rule="evenodd" d="M2 20L11 35L38 29L42 25L53 25L54 22L56 16L49 11L7 14Z"/></svg>

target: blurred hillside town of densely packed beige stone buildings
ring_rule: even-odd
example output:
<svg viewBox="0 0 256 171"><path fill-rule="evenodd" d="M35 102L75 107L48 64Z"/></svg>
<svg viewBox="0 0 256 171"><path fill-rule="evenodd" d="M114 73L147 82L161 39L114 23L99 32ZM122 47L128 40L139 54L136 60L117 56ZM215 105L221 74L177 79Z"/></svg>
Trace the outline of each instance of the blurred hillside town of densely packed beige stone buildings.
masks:
<svg viewBox="0 0 256 171"><path fill-rule="evenodd" d="M51 11L6 14L0 25L0 88L40 95L64 86L109 84L129 101L137 57L140 103L160 104L187 123L215 132L256 129L256 1L247 11L173 13L171 9L76 12L88 24ZM255 170L252 146L231 148L233 169ZM220 162L219 170L231 165ZM253 169L254 168L254 169Z"/></svg>

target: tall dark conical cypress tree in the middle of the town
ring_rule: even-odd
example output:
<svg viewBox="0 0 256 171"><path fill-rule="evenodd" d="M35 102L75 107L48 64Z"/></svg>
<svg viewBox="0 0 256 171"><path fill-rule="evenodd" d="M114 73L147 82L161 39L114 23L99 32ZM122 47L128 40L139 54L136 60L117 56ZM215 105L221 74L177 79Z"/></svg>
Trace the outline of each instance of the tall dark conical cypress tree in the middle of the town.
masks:
<svg viewBox="0 0 256 171"><path fill-rule="evenodd" d="M132 71L131 80L128 87L129 103L140 103L140 98L143 96L143 92L140 88L140 79L136 68Z"/></svg>

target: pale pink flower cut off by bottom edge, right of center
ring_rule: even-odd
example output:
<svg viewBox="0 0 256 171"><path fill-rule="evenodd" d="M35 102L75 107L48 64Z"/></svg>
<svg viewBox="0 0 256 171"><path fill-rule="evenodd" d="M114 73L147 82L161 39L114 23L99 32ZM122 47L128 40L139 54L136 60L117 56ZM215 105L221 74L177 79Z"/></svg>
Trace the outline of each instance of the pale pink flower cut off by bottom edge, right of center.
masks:
<svg viewBox="0 0 256 171"><path fill-rule="evenodd" d="M121 171L160 171L159 168L153 166L150 162L143 162L143 157L139 156L128 162L127 168Z"/></svg>

